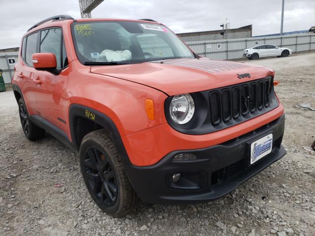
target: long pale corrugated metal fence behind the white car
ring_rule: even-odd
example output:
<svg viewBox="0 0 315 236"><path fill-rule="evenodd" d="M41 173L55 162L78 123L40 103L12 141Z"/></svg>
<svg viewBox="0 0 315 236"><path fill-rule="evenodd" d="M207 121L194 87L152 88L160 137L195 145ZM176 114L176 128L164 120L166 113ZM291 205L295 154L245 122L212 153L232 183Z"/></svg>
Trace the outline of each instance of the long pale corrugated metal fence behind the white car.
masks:
<svg viewBox="0 0 315 236"><path fill-rule="evenodd" d="M292 52L315 50L315 34L299 33L283 36L222 39L209 41L186 42L197 54L210 59L238 59L243 57L246 48L260 44L272 44L290 48Z"/></svg>

